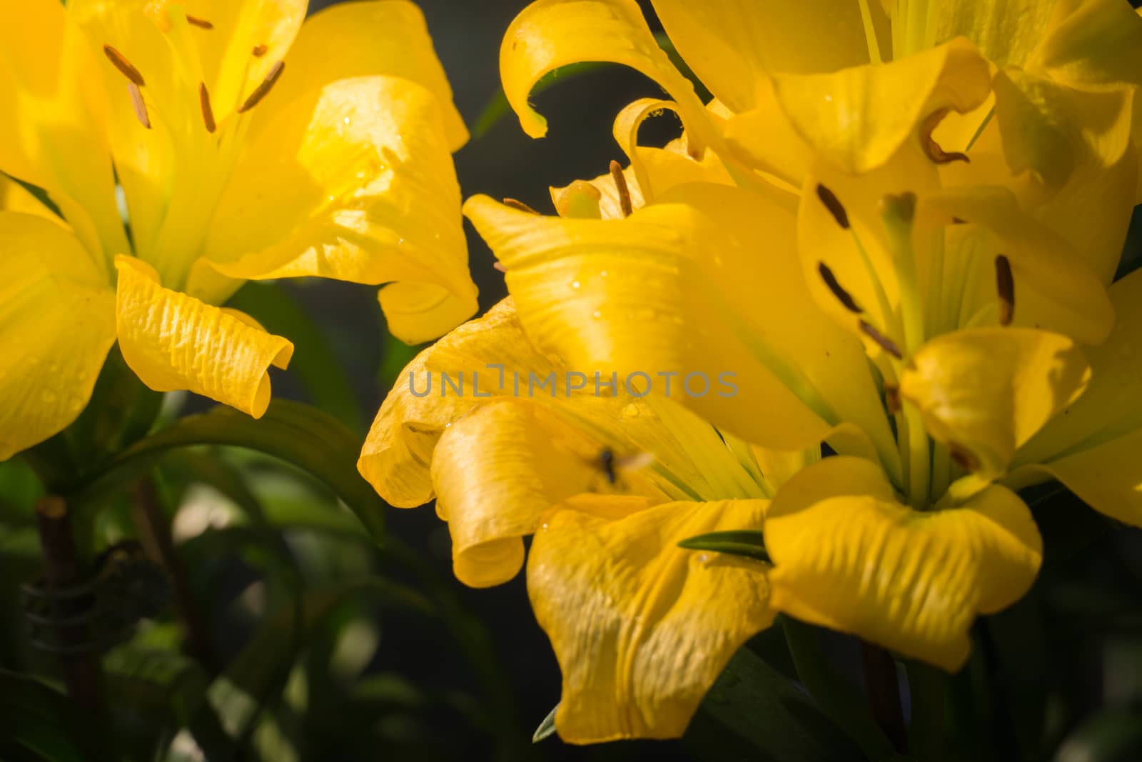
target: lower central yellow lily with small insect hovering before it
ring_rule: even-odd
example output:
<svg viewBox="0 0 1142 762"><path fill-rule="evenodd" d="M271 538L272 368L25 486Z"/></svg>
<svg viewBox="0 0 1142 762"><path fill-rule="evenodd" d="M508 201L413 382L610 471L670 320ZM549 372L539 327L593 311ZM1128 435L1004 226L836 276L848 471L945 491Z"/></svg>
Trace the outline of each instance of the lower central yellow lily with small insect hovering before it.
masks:
<svg viewBox="0 0 1142 762"><path fill-rule="evenodd" d="M563 671L564 740L676 737L773 619L766 564L677 547L762 526L765 454L621 382L613 394L564 387L564 371L506 299L405 368L357 467L392 505L436 499L465 584L513 578L534 534L528 591ZM641 454L653 460L617 465Z"/></svg>

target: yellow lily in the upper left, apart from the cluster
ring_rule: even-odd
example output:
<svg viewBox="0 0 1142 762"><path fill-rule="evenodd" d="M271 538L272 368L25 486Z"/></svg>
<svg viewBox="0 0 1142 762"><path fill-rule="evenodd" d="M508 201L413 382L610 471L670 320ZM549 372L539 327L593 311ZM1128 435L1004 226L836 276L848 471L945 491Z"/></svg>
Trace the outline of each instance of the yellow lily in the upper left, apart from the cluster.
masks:
<svg viewBox="0 0 1142 762"><path fill-rule="evenodd" d="M260 416L292 345L217 306L247 279L387 283L409 342L475 312L450 157L467 133L416 6L3 10L0 171L59 216L0 189L0 459L74 420L116 340L150 387Z"/></svg>

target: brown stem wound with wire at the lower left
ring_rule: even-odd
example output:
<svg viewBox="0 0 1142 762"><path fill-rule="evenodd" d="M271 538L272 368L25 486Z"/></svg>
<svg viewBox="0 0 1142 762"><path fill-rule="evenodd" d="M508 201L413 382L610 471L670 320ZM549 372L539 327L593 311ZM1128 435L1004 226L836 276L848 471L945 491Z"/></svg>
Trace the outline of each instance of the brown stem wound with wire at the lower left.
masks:
<svg viewBox="0 0 1142 762"><path fill-rule="evenodd" d="M71 516L62 497L48 495L35 504L35 520L43 548L43 579L49 592L61 592L83 581L83 568L75 553L71 532ZM57 613L79 617L90 597L62 601ZM85 708L98 711L103 706L103 672L91 632L86 624L70 624L59 628L59 642L66 648L61 659L67 695Z"/></svg>

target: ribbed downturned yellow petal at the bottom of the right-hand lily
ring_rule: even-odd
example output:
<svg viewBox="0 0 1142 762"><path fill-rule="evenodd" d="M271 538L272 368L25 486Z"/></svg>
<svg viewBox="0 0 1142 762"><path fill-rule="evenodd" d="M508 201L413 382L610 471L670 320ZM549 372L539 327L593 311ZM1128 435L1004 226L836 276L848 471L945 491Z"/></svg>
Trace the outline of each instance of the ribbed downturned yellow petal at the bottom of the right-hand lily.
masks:
<svg viewBox="0 0 1142 762"><path fill-rule="evenodd" d="M967 659L975 616L1023 595L1043 559L1030 511L1007 488L920 513L875 464L844 456L778 491L765 547L773 608L949 672Z"/></svg>

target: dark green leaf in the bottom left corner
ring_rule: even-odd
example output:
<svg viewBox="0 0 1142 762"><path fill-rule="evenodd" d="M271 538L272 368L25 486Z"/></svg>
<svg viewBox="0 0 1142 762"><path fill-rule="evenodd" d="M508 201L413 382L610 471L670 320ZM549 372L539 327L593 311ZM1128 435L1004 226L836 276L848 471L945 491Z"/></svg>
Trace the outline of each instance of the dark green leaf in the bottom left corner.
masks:
<svg viewBox="0 0 1142 762"><path fill-rule="evenodd" d="M66 696L32 677L0 669L0 760L111 759L98 753L99 738L90 717Z"/></svg>

